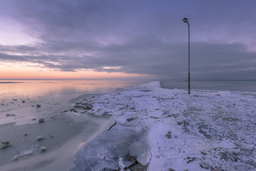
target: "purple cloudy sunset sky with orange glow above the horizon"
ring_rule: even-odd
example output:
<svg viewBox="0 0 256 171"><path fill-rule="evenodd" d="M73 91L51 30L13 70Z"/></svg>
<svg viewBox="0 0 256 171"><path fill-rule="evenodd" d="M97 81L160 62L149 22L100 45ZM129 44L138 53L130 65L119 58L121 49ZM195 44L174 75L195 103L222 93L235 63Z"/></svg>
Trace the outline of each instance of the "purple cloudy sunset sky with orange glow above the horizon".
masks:
<svg viewBox="0 0 256 171"><path fill-rule="evenodd" d="M0 0L0 79L256 79L255 0Z"/></svg>

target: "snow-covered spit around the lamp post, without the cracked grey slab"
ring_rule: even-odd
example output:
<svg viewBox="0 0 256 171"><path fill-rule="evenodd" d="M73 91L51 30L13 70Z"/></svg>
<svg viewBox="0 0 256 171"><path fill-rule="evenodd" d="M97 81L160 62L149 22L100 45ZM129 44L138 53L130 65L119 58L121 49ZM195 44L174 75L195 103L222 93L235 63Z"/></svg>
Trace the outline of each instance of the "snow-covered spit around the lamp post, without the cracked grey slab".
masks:
<svg viewBox="0 0 256 171"><path fill-rule="evenodd" d="M148 171L198 171L201 162L215 170L256 170L255 92L188 94L150 82L79 103L118 113L111 117L116 122L148 129L153 146Z"/></svg>

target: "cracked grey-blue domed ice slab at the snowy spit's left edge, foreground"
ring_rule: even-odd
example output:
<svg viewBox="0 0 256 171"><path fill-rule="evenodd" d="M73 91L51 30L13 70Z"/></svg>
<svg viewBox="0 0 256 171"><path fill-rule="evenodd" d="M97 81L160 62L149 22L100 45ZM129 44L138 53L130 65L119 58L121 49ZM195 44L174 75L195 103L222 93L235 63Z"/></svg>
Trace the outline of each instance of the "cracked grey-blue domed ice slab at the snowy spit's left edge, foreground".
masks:
<svg viewBox="0 0 256 171"><path fill-rule="evenodd" d="M76 151L73 158L75 167L78 171L118 170L129 167L134 162L130 160L123 162L123 158L128 154L137 157L150 150L150 146L142 140L145 135L134 132L134 127L115 124ZM145 155L146 153L143 154Z"/></svg>

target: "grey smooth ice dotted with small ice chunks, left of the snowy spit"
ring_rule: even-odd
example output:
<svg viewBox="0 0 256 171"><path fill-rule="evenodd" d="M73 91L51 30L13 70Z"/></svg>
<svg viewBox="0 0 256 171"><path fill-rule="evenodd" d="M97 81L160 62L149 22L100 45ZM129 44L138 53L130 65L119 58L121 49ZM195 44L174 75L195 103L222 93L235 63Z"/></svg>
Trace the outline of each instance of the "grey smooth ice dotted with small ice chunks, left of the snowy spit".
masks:
<svg viewBox="0 0 256 171"><path fill-rule="evenodd" d="M60 111L78 99L97 95L65 95L62 99L21 96L17 100L4 100L0 112L0 143L5 142L7 146L0 148L0 170L63 171L74 167L72 158L76 148L105 130L110 116L97 120L86 116L74 118ZM39 122L40 118L44 118L44 122ZM38 140L40 136L42 139Z"/></svg>

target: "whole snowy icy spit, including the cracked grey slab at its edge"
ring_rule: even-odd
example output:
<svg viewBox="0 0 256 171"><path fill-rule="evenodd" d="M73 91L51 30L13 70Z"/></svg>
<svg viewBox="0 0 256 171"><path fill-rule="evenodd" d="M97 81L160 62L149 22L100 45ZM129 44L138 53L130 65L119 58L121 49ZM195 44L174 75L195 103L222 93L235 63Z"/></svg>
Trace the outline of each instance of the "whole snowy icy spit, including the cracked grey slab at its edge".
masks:
<svg viewBox="0 0 256 171"><path fill-rule="evenodd" d="M81 145L73 170L131 170L125 157L137 160L147 150L141 164L148 171L256 170L256 92L188 94L150 82L77 101L69 114L78 113L110 114L116 124ZM142 150L137 146L133 150L140 151L130 154L138 139Z"/></svg>

